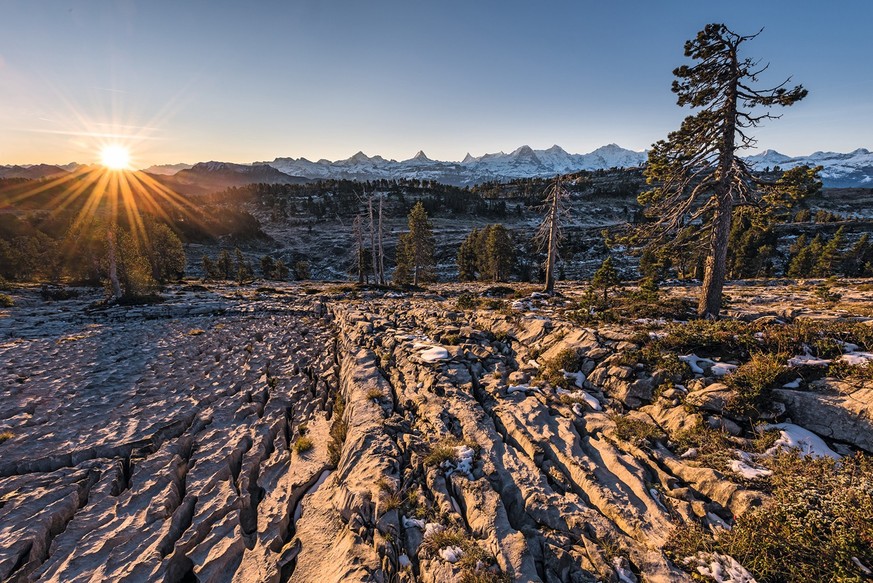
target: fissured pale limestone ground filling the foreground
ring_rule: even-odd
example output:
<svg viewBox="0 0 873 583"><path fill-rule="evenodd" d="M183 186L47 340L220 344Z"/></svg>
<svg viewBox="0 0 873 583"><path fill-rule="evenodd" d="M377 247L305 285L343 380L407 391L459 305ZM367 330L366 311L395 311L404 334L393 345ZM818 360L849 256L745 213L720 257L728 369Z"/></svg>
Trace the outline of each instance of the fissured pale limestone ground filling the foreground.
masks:
<svg viewBox="0 0 873 583"><path fill-rule="evenodd" d="M867 285L826 304L732 286L729 321L866 339ZM740 413L748 355L686 352L688 324L580 316L581 287L470 291L186 286L109 309L13 292L0 580L751 581L742 557L681 556L677 529L718 540L768 508L780 448L873 454L873 383L829 374L873 345L788 354L771 402ZM850 559L857 580L873 567Z"/></svg>

